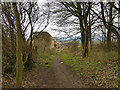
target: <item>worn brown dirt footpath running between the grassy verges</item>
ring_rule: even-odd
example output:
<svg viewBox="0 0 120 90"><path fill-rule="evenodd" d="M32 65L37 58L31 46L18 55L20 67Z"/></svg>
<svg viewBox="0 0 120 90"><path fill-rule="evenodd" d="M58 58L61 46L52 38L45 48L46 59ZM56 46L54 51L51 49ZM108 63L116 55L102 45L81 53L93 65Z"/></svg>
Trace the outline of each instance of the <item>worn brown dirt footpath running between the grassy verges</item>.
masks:
<svg viewBox="0 0 120 90"><path fill-rule="evenodd" d="M81 79L74 71L66 66L61 60L60 56L57 56L50 67L53 70L54 88L84 88Z"/></svg>

